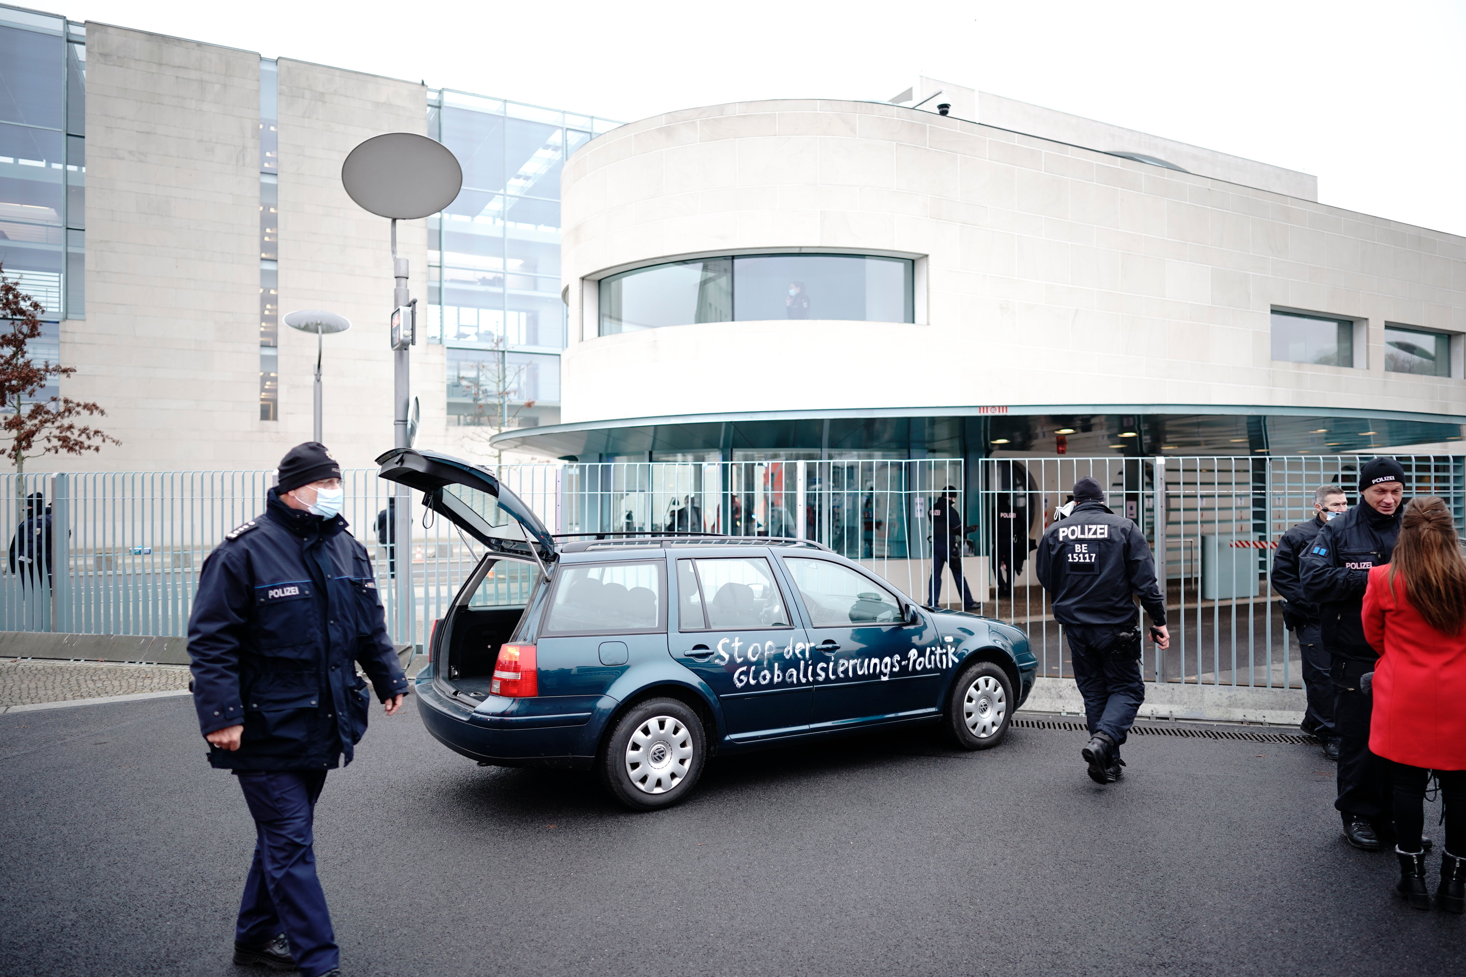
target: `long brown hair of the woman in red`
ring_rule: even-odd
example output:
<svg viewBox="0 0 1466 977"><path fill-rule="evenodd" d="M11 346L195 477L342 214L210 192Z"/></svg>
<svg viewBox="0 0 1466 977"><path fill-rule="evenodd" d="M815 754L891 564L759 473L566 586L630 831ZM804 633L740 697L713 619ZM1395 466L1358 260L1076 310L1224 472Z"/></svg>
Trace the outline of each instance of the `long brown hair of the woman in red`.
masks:
<svg viewBox="0 0 1466 977"><path fill-rule="evenodd" d="M1456 521L1445 502L1434 495L1410 499L1400 524L1400 540L1390 557L1390 586L1404 579L1410 603L1425 623L1443 634L1466 627L1466 558Z"/></svg>

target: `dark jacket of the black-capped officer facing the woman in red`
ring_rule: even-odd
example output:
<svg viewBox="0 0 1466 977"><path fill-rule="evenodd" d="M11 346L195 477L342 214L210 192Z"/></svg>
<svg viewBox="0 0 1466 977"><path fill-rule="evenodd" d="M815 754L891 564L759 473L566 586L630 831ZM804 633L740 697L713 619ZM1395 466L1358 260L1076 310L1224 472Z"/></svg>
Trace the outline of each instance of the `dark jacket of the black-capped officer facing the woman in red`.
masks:
<svg viewBox="0 0 1466 977"><path fill-rule="evenodd" d="M1372 662L1375 650L1365 640L1360 618L1369 567L1390 562L1400 538L1400 508L1381 516L1359 502L1338 519L1324 523L1303 554L1303 599L1318 605L1324 647L1340 658Z"/></svg>

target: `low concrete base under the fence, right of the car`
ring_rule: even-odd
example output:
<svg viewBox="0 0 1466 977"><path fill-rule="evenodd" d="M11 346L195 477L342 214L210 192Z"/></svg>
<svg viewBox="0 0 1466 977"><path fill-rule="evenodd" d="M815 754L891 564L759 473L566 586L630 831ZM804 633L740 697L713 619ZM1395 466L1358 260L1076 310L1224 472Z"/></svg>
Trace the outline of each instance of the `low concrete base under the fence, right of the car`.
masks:
<svg viewBox="0 0 1466 977"><path fill-rule="evenodd" d="M1143 719L1209 719L1296 727L1308 699L1302 688L1145 683ZM1085 700L1073 678L1038 678L1020 712L1085 715Z"/></svg>

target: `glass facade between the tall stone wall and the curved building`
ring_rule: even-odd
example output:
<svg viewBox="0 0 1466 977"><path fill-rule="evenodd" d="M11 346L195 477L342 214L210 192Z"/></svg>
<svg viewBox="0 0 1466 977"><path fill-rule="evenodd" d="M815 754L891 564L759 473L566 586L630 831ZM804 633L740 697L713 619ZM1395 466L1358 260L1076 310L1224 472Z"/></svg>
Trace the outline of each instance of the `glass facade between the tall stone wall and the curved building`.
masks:
<svg viewBox="0 0 1466 977"><path fill-rule="evenodd" d="M450 423L560 419L560 170L619 123L465 92L428 94L428 135L463 189L428 218L427 337L449 347Z"/></svg>

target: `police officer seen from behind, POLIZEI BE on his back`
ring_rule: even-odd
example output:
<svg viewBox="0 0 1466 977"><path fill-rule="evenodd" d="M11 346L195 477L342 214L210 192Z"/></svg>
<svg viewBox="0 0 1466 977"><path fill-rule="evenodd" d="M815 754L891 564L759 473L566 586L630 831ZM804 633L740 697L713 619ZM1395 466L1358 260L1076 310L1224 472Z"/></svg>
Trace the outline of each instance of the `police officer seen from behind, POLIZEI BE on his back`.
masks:
<svg viewBox="0 0 1466 977"><path fill-rule="evenodd" d="M1155 582L1155 560L1141 529L1104 504L1104 489L1091 478L1075 482L1067 519L1044 530L1038 546L1038 582L1064 625L1075 681L1085 699L1089 743L1080 751L1089 779L1120 779L1120 746L1145 700L1141 678L1141 627L1135 598L1151 617L1151 639L1170 647L1165 599Z"/></svg>

